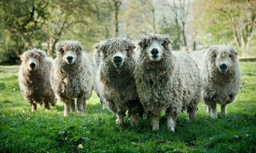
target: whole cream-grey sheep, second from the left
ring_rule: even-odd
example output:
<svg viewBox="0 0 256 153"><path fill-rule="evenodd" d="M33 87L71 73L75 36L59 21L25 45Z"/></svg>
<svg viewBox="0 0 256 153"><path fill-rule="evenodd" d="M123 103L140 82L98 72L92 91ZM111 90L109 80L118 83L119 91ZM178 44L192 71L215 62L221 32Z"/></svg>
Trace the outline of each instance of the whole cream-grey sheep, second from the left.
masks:
<svg viewBox="0 0 256 153"><path fill-rule="evenodd" d="M57 99L64 103L64 116L71 110L86 111L86 100L92 96L95 84L95 64L82 50L80 42L60 41L56 44L55 62L51 70L51 84Z"/></svg>

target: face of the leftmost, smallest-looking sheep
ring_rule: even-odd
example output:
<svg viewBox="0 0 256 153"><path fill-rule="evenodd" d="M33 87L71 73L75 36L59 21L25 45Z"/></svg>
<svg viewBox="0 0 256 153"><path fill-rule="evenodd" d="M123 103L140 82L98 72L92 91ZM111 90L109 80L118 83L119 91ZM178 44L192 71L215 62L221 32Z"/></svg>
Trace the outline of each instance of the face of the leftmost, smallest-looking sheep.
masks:
<svg viewBox="0 0 256 153"><path fill-rule="evenodd" d="M34 71L39 69L40 63L42 63L44 57L46 57L46 52L43 50L33 49L24 52L21 60L28 70Z"/></svg>

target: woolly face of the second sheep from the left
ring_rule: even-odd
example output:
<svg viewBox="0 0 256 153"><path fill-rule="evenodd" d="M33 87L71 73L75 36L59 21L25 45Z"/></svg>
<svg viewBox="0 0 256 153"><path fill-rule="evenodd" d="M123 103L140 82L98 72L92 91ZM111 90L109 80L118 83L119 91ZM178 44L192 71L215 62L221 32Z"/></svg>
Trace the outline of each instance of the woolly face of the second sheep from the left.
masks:
<svg viewBox="0 0 256 153"><path fill-rule="evenodd" d="M72 65L82 54L82 45L76 41L60 41L56 44L57 57L68 65Z"/></svg>

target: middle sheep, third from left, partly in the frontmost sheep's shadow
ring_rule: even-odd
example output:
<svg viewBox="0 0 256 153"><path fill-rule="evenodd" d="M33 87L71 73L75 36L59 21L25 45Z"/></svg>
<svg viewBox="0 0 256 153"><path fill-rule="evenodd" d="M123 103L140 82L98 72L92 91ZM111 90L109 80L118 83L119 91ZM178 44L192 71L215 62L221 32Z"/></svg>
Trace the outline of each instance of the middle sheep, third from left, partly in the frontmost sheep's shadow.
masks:
<svg viewBox="0 0 256 153"><path fill-rule="evenodd" d="M117 115L117 125L125 124L128 111L132 126L138 126L143 107L138 99L134 80L134 44L129 39L110 39L97 44L97 86L100 96Z"/></svg>

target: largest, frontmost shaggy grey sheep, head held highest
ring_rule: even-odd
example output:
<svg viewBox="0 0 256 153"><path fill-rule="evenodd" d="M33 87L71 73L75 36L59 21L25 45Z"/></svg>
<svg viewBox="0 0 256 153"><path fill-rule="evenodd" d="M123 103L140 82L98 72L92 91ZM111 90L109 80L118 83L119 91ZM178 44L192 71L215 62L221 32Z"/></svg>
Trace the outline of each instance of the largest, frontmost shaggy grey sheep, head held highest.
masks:
<svg viewBox="0 0 256 153"><path fill-rule="evenodd" d="M201 100L200 71L188 54L172 52L169 37L154 34L139 41L135 82L139 99L151 117L152 130L159 130L159 114L166 111L168 130L175 131L175 119L187 109L188 120L196 117Z"/></svg>

